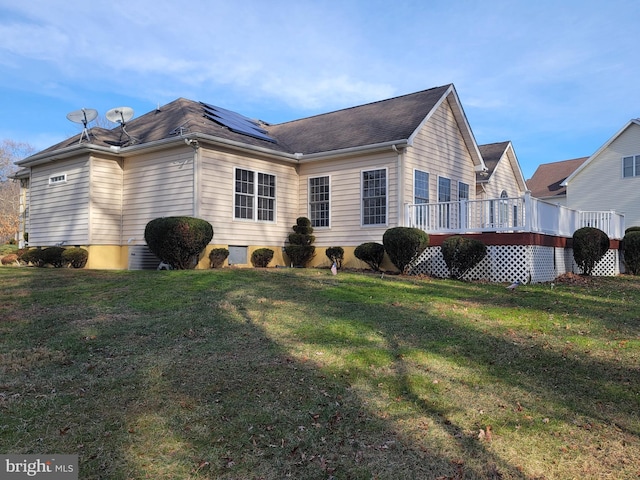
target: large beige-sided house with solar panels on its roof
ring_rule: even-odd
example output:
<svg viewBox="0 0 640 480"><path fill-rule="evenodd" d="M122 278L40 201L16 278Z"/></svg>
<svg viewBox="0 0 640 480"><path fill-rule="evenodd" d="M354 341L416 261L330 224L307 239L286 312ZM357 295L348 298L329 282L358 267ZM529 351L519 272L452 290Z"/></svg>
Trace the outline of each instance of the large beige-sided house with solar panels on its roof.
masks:
<svg viewBox="0 0 640 480"><path fill-rule="evenodd" d="M139 268L146 224L173 215L209 221L208 249L228 247L241 265L260 247L286 264L282 247L306 216L315 264L342 246L346 265L360 265L353 249L405 225L406 205L474 200L486 169L453 85L277 125L180 98L86 137L17 163L21 234L87 248L88 268ZM494 174L503 162L519 173L505 151Z"/></svg>

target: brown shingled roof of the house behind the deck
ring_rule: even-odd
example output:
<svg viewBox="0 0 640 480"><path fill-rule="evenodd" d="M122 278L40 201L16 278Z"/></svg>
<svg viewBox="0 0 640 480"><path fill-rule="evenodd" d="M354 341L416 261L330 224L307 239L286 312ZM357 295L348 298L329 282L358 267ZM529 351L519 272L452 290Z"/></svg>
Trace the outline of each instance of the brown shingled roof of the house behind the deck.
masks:
<svg viewBox="0 0 640 480"><path fill-rule="evenodd" d="M567 206L567 187L564 181L589 157L574 158L540 165L527 180L531 195L556 205Z"/></svg>

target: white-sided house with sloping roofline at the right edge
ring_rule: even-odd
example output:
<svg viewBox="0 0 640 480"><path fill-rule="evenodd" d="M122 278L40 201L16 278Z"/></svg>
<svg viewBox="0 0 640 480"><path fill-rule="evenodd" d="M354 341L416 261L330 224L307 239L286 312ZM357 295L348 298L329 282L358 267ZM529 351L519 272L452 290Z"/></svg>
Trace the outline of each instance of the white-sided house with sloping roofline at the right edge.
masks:
<svg viewBox="0 0 640 480"><path fill-rule="evenodd" d="M568 207L615 210L624 214L627 227L640 226L640 119L627 122L562 186Z"/></svg>

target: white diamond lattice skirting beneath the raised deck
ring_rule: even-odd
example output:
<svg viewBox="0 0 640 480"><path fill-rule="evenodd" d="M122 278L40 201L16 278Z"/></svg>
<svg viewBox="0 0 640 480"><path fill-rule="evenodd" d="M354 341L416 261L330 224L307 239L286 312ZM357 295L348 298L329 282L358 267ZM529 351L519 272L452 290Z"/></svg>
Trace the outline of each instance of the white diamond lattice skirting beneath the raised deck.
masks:
<svg viewBox="0 0 640 480"><path fill-rule="evenodd" d="M573 250L540 245L491 245L487 256L463 277L464 280L522 283L551 282L562 274L582 273L573 260ZM411 270L414 275L447 278L449 269L440 247L428 247ZM620 273L618 250L609 250L593 271L598 276Z"/></svg>

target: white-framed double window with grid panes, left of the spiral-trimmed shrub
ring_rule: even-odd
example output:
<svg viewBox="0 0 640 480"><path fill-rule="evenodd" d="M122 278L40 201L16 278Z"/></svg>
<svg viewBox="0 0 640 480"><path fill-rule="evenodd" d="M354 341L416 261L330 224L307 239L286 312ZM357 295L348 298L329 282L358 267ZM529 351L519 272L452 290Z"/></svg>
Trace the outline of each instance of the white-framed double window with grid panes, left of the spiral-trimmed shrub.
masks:
<svg viewBox="0 0 640 480"><path fill-rule="evenodd" d="M273 222L276 212L276 177L236 168L234 217Z"/></svg>

